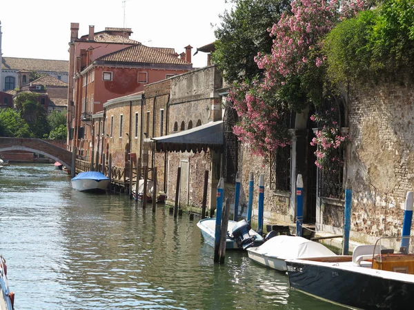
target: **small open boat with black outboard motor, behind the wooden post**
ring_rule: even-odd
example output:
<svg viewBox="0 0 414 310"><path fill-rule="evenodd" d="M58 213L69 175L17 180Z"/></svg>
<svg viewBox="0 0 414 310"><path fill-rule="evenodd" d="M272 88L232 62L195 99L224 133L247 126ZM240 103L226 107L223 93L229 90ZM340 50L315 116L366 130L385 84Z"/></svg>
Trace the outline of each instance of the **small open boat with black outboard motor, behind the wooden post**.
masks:
<svg viewBox="0 0 414 310"><path fill-rule="evenodd" d="M204 241L215 246L215 218L204 218L197 223ZM228 220L228 234L226 239L226 249L247 249L250 246L258 247L263 243L263 237L251 229L246 220L236 222Z"/></svg>

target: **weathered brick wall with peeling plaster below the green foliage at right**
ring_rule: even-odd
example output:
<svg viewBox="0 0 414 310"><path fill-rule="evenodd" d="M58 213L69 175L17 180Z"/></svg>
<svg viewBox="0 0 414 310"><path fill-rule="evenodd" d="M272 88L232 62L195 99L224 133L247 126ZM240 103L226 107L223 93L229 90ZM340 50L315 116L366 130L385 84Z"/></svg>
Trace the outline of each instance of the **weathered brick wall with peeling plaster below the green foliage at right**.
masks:
<svg viewBox="0 0 414 310"><path fill-rule="evenodd" d="M406 79L368 85L351 98L346 177L355 235L401 235L402 208L414 181L413 103L413 84Z"/></svg>

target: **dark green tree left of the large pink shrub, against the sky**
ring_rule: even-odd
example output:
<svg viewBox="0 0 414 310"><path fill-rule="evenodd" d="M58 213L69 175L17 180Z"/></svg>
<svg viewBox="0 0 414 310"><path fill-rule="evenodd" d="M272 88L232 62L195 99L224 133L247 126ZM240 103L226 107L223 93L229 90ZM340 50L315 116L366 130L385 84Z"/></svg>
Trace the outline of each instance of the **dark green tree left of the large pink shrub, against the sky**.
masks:
<svg viewBox="0 0 414 310"><path fill-rule="evenodd" d="M290 0L230 0L234 7L221 15L215 31L213 62L229 83L252 79L262 72L255 63L257 53L270 53L273 38L269 29L282 12L290 10Z"/></svg>

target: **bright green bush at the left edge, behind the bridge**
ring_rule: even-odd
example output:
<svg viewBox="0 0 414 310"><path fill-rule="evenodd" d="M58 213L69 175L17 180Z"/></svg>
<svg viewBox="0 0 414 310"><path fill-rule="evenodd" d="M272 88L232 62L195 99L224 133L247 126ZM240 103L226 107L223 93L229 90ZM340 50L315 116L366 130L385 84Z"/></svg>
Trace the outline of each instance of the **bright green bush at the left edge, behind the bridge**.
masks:
<svg viewBox="0 0 414 310"><path fill-rule="evenodd" d="M33 138L28 123L13 109L0 110L0 136Z"/></svg>

